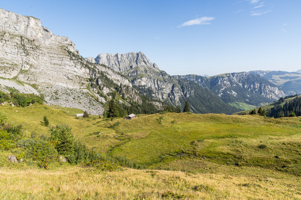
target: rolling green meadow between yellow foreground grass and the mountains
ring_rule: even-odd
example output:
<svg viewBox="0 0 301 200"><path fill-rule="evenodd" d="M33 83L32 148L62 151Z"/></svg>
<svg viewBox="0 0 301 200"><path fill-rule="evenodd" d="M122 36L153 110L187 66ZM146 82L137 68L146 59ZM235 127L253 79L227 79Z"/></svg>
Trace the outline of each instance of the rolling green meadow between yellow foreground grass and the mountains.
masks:
<svg viewBox="0 0 301 200"><path fill-rule="evenodd" d="M48 134L40 122L46 115L50 125L70 125L75 137L89 147L126 156L150 169L268 176L282 181L301 176L300 117L164 113L111 121L75 119L64 109L46 105L0 109L12 121L26 124L27 136L33 131ZM94 134L98 131L100 135ZM188 155L176 155L181 152ZM301 187L300 182L296 185Z"/></svg>

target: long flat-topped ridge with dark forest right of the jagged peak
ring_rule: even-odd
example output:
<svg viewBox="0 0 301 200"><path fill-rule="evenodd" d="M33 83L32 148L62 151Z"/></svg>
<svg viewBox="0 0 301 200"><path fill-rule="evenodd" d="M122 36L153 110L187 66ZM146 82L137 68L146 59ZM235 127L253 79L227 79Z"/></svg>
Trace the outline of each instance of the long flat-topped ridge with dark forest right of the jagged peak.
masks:
<svg viewBox="0 0 301 200"><path fill-rule="evenodd" d="M271 103L286 95L276 85L256 74L226 73L203 77L197 75L173 76L184 78L208 88L226 103L243 102L251 105Z"/></svg>

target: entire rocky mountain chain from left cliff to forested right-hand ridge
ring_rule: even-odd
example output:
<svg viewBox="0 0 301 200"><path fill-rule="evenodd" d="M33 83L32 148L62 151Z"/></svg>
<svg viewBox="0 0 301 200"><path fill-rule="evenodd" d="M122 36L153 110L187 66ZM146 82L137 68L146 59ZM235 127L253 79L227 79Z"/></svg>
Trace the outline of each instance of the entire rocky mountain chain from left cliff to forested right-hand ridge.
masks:
<svg viewBox="0 0 301 200"><path fill-rule="evenodd" d="M239 110L230 103L259 105L287 95L283 85L265 78L268 73L170 76L142 52L83 58L68 37L39 19L0 9L0 89L44 94L49 105L101 115L112 98L124 106L147 105L147 113L167 104L183 108L188 100L195 113L232 114Z"/></svg>

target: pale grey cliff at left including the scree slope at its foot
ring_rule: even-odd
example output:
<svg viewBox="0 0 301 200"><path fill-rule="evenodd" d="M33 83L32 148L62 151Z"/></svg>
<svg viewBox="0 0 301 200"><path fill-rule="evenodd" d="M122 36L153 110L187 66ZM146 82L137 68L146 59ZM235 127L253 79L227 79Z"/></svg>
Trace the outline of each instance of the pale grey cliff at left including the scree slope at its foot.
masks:
<svg viewBox="0 0 301 200"><path fill-rule="evenodd" d="M102 103L105 103L105 98L98 94L110 98L115 91L113 84L130 88L124 96L141 103L138 91L129 79L109 67L96 64L94 58L84 60L68 37L53 34L35 17L4 9L0 9L0 76L5 78L0 90L15 87L24 93L44 94L48 104L79 109L88 107L85 110L96 115L103 113ZM16 81L7 80L13 77ZM55 98L48 92L51 87L74 90L82 95L71 100L58 90L60 97Z"/></svg>

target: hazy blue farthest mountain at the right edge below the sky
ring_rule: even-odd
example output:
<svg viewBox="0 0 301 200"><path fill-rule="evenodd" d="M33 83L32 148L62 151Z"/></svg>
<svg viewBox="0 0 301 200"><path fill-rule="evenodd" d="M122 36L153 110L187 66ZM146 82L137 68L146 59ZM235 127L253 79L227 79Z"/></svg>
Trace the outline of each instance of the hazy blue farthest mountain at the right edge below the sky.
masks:
<svg viewBox="0 0 301 200"><path fill-rule="evenodd" d="M299 71L299 70L298 70ZM268 81L280 86L288 94L301 94L301 73L286 71L250 71L249 73L259 74Z"/></svg>

